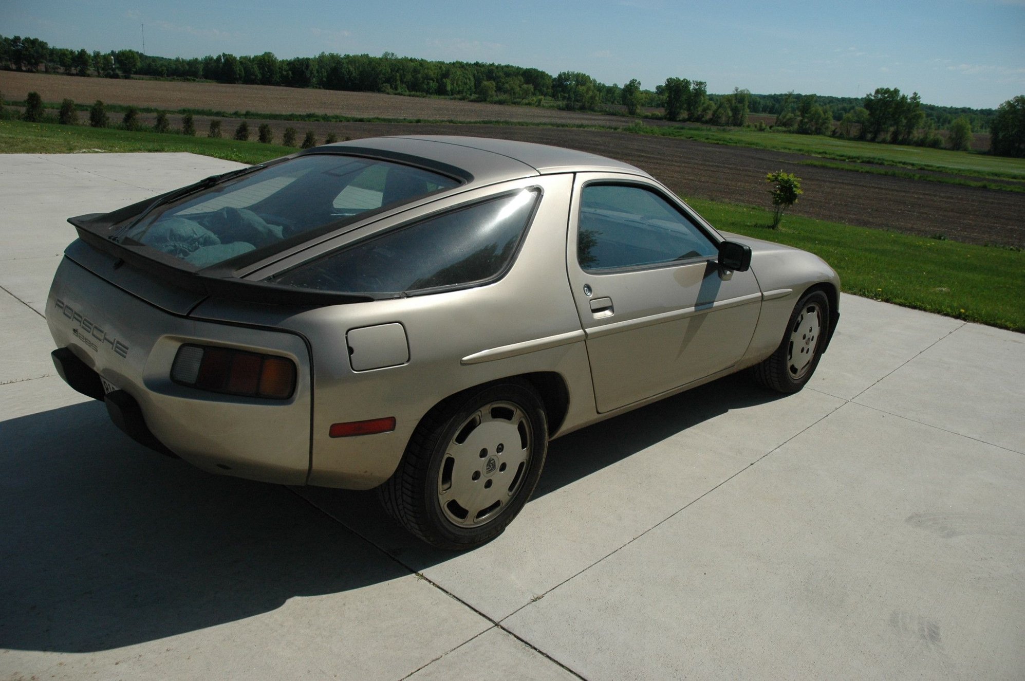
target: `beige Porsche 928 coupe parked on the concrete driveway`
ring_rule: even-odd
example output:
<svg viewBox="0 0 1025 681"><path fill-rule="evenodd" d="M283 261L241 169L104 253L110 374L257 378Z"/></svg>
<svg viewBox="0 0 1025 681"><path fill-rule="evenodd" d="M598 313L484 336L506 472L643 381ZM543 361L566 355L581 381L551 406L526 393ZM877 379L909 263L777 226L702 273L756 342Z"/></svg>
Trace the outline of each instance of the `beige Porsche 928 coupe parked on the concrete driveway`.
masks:
<svg viewBox="0 0 1025 681"><path fill-rule="evenodd" d="M376 487L446 549L503 530L552 438L747 367L799 390L838 317L817 256L524 143L330 145L70 222L72 388L210 473Z"/></svg>

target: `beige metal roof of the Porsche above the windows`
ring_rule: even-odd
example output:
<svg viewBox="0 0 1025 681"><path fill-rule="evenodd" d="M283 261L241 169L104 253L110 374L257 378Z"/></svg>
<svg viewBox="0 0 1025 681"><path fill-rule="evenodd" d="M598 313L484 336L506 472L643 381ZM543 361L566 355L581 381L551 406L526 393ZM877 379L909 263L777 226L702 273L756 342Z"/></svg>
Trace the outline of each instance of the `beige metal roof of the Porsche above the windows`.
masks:
<svg viewBox="0 0 1025 681"><path fill-rule="evenodd" d="M474 184L491 184L535 174L557 172L626 172L650 176L622 161L573 149L530 142L459 135L395 135L329 145L328 149L354 153L382 152L454 166L468 173ZM325 149L324 147L320 149Z"/></svg>

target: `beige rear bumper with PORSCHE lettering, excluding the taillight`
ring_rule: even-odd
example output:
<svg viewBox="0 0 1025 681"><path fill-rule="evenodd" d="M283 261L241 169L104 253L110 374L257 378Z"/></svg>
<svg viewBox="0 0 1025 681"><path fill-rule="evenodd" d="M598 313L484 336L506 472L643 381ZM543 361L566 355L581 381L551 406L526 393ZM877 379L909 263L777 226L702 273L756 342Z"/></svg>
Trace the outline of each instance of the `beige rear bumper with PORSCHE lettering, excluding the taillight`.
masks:
<svg viewBox="0 0 1025 681"><path fill-rule="evenodd" d="M134 440L210 473L305 484L313 404L310 353L300 336L172 314L67 257L46 312L57 371L78 392L104 400ZM265 400L177 385L171 365L184 344L286 357L298 369L295 392Z"/></svg>

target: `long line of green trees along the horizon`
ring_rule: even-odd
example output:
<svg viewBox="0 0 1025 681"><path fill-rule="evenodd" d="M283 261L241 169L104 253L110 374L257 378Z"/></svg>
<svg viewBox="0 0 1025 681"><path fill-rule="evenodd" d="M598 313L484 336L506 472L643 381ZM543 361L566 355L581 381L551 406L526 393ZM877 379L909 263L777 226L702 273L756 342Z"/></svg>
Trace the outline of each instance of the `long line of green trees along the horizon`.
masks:
<svg viewBox="0 0 1025 681"><path fill-rule="evenodd" d="M106 78L142 75L440 95L498 104L555 104L570 111L610 111L622 107L628 115L710 125L743 126L748 114L772 114L776 117L772 127L776 129L932 147L946 144L954 149L967 149L973 131L988 131L997 120L996 110L927 105L917 93L907 95L897 88L876 88L864 97L793 92L752 94L739 88L728 94L709 94L704 81L670 77L654 90L646 90L637 79L620 87L601 83L581 72L564 71L551 76L539 69L512 65L437 62L398 56L394 52L384 52L381 56L322 52L317 56L288 59L280 59L272 52L243 56L225 52L204 57L167 58L131 49L88 52L51 47L37 38L0 36L0 68ZM658 109L663 112L652 111ZM1017 119L1004 116L1000 120ZM758 127L765 125L760 123ZM940 129L948 131L946 138L939 134ZM1001 130L997 130L995 136L1004 141L1011 138ZM1000 151L1006 147L996 145L993 151L1006 153Z"/></svg>

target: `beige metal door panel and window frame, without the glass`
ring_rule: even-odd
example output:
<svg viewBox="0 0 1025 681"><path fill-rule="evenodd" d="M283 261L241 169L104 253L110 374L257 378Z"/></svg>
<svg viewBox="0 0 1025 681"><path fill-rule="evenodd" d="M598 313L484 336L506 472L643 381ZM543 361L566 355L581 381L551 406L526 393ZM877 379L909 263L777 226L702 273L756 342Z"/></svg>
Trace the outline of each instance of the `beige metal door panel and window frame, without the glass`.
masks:
<svg viewBox="0 0 1025 681"><path fill-rule="evenodd" d="M753 273L725 270L715 257L584 271L577 258L577 234L580 197L591 183L655 192L691 222L697 219L686 204L653 181L623 173L577 173L566 259L586 332L597 410L619 409L740 362L762 307ZM710 229L704 237L712 245L721 240Z"/></svg>

